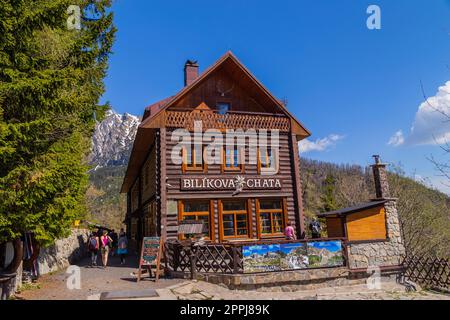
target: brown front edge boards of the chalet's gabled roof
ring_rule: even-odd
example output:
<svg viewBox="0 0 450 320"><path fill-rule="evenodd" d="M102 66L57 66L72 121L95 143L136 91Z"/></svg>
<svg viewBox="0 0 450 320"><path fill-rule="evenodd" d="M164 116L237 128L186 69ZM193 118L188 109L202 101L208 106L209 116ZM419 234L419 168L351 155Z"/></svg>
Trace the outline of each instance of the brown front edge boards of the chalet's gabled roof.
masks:
<svg viewBox="0 0 450 320"><path fill-rule="evenodd" d="M247 77L250 81L252 81L256 87L260 90L260 92L265 95L270 101L274 103L277 107L279 107L280 111L284 113L291 119L293 132L299 138L298 140L302 140L311 135L311 133L306 129L303 124L300 123L283 105L283 103L276 99L269 90L264 87L264 85L256 79L256 77L236 58L236 56L228 51L225 53L219 60L217 60L211 67L209 67L205 72L203 72L195 81L193 81L190 85L184 87L178 94L175 96L163 100L163 103L158 105L159 110L155 110L156 113L152 114L150 117L145 118L142 121L140 127L143 128L157 128L160 127L163 121L160 117L163 116L163 111L167 110L171 106L175 105L178 101L180 101L185 95L191 92L194 88L196 88L200 83L202 83L209 75L215 72L219 67L225 65L226 63L232 63L237 69L242 73L244 77Z"/></svg>

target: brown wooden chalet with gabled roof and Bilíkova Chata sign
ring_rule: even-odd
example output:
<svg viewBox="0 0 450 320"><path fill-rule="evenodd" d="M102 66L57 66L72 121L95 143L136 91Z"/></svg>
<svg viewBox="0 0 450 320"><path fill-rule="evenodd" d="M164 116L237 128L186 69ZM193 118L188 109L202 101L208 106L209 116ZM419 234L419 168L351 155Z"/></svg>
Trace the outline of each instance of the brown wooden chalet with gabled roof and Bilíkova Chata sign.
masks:
<svg viewBox="0 0 450 320"><path fill-rule="evenodd" d="M179 93L145 109L138 128L121 189L128 199L129 236L138 243L145 236L179 239L180 221L197 220L212 243L267 241L284 238L289 221L303 238L297 143L309 131L231 52L202 74L195 61L187 61L184 80ZM257 163L239 164L236 156L248 156L248 147L234 154L224 149L222 164L207 165L195 149L184 148L189 161L174 164L172 133L193 131L200 120L203 130L278 130L279 153L258 152ZM263 177L261 169L272 161L277 172ZM238 193L226 187L237 176L247 181Z"/></svg>

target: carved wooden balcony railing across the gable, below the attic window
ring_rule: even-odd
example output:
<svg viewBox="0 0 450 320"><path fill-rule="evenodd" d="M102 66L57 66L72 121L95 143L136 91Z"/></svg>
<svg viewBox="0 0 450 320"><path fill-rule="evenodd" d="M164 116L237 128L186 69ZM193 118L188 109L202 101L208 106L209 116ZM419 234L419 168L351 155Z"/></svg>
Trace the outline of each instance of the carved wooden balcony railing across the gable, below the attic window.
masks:
<svg viewBox="0 0 450 320"><path fill-rule="evenodd" d="M289 132L290 120L284 116L263 116L249 114L218 114L214 112L167 111L165 126L167 128L185 128L194 130L194 122L201 121L202 129L267 129Z"/></svg>

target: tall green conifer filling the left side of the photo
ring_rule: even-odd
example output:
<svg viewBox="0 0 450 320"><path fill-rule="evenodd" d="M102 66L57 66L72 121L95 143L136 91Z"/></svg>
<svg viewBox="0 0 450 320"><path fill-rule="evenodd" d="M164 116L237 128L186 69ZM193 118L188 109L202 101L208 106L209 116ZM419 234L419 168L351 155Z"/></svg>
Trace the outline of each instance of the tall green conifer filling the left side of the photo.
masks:
<svg viewBox="0 0 450 320"><path fill-rule="evenodd" d="M81 8L69 30L67 9ZM0 0L0 242L41 244L85 214L86 163L114 40L111 0Z"/></svg>

